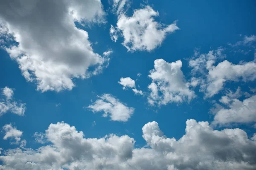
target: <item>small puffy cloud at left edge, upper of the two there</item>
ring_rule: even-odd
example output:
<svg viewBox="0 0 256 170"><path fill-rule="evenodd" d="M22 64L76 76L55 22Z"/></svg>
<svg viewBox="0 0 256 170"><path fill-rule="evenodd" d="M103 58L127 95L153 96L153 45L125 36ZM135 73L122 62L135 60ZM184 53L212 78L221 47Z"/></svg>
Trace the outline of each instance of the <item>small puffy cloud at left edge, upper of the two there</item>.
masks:
<svg viewBox="0 0 256 170"><path fill-rule="evenodd" d="M6 99L2 99L3 102L0 102L0 116L7 111L23 116L26 111L26 103L18 103L13 101L13 89L5 87L2 90L2 94L6 97Z"/></svg>

